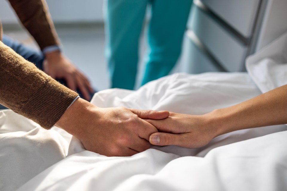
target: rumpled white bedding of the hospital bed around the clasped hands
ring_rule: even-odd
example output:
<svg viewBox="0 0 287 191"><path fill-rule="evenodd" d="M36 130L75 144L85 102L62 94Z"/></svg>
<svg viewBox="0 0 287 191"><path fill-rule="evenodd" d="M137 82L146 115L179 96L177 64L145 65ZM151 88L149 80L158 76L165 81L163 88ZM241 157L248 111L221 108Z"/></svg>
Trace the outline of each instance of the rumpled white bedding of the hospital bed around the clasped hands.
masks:
<svg viewBox="0 0 287 191"><path fill-rule="evenodd" d="M136 91L100 91L91 103L204 114L286 84L286 50L287 33L247 59L248 73L176 73ZM286 130L259 127L220 135L198 149L152 146L106 157L86 151L64 130L45 130L4 110L0 190L287 190Z"/></svg>

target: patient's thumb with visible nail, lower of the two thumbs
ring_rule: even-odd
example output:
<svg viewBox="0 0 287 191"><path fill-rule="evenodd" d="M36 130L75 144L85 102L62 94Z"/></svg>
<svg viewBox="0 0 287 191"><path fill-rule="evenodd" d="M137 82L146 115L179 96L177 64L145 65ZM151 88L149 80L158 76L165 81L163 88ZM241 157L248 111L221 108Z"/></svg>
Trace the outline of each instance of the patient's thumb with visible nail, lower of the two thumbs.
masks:
<svg viewBox="0 0 287 191"><path fill-rule="evenodd" d="M149 136L149 142L154 145L177 145L181 146L182 135L170 133L153 133Z"/></svg>

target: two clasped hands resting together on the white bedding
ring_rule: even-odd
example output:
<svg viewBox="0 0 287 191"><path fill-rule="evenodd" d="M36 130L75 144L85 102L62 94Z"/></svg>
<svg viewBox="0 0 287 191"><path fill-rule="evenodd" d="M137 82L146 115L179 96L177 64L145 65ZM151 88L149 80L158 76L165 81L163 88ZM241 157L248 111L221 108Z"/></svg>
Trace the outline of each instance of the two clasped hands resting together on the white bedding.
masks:
<svg viewBox="0 0 287 191"><path fill-rule="evenodd" d="M86 150L106 156L131 156L151 144L202 147L216 134L210 130L210 122L204 115L99 108L78 98L56 125L77 137Z"/></svg>

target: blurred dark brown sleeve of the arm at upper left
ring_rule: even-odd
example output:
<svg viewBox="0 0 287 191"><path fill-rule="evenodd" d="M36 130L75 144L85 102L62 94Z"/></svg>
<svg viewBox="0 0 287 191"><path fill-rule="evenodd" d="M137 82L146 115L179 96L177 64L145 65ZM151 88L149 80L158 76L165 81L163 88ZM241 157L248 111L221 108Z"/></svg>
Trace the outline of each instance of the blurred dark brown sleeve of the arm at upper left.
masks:
<svg viewBox="0 0 287 191"><path fill-rule="evenodd" d="M45 0L9 0L9 2L41 50L60 44Z"/></svg>

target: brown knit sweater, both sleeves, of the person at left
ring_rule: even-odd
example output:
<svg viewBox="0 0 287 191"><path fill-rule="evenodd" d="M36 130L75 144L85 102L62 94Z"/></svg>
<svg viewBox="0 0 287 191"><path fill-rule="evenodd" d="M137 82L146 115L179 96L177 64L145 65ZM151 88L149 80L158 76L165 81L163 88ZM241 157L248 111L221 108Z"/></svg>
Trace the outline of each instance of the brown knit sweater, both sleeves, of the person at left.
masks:
<svg viewBox="0 0 287 191"><path fill-rule="evenodd" d="M9 1L41 49L59 44L45 1ZM1 104L50 129L77 96L0 41Z"/></svg>

